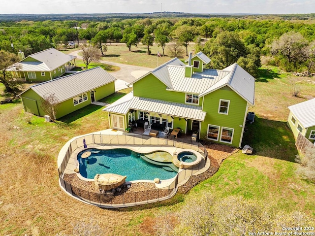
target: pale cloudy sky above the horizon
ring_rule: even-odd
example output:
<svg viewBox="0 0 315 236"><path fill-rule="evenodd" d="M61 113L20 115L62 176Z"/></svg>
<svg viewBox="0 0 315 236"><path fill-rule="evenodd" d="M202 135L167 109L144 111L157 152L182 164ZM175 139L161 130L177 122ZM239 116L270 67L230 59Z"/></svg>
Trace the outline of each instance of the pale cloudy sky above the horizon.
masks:
<svg viewBox="0 0 315 236"><path fill-rule="evenodd" d="M132 13L314 13L315 0L1 0L0 14Z"/></svg>

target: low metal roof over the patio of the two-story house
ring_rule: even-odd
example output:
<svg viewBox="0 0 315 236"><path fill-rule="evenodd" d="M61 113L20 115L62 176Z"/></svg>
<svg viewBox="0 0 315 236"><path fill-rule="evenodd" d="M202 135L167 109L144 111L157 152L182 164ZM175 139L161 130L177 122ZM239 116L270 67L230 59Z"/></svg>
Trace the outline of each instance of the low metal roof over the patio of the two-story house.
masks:
<svg viewBox="0 0 315 236"><path fill-rule="evenodd" d="M122 102L120 102L120 100L118 100L117 104L112 104L103 110L120 114L126 114L129 109L143 110L200 121L204 121L206 116L206 112L202 111L200 106L140 97L132 97L131 100L126 99Z"/></svg>

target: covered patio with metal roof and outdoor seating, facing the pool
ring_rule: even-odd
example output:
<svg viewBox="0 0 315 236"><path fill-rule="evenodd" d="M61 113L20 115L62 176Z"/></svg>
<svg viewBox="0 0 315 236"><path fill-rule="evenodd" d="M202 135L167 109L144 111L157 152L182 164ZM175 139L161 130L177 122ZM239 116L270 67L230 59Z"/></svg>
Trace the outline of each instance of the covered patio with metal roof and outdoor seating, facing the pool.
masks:
<svg viewBox="0 0 315 236"><path fill-rule="evenodd" d="M161 132L169 129L167 138L190 139L196 134L199 138L200 123L204 121L206 112L201 106L140 98L127 94L122 99L103 109L109 112L110 127L125 131L132 128L132 132L141 135L165 137ZM153 132L144 130L148 123Z"/></svg>

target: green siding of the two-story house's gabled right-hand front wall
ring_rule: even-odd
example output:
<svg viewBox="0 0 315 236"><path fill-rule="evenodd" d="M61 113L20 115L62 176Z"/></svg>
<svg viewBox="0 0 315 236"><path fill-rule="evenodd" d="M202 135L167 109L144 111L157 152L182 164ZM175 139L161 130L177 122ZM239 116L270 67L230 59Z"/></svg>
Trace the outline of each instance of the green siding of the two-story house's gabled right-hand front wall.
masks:
<svg viewBox="0 0 315 236"><path fill-rule="evenodd" d="M218 113L220 99L230 101L228 115ZM232 143L224 142L224 144L238 147L242 135L242 127L240 125L243 126L246 108L247 101L227 86L206 95L203 110L207 112L207 115L205 121L201 122L200 139L206 139L208 124L220 126L219 135L221 135L222 127L232 128L234 129Z"/></svg>

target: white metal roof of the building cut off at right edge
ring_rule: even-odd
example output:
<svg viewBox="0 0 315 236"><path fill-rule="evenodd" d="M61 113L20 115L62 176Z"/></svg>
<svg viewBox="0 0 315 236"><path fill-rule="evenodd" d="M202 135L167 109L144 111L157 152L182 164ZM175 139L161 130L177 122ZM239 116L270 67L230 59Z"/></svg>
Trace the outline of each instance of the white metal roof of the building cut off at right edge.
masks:
<svg viewBox="0 0 315 236"><path fill-rule="evenodd" d="M315 126L315 99L288 106L304 128Z"/></svg>

